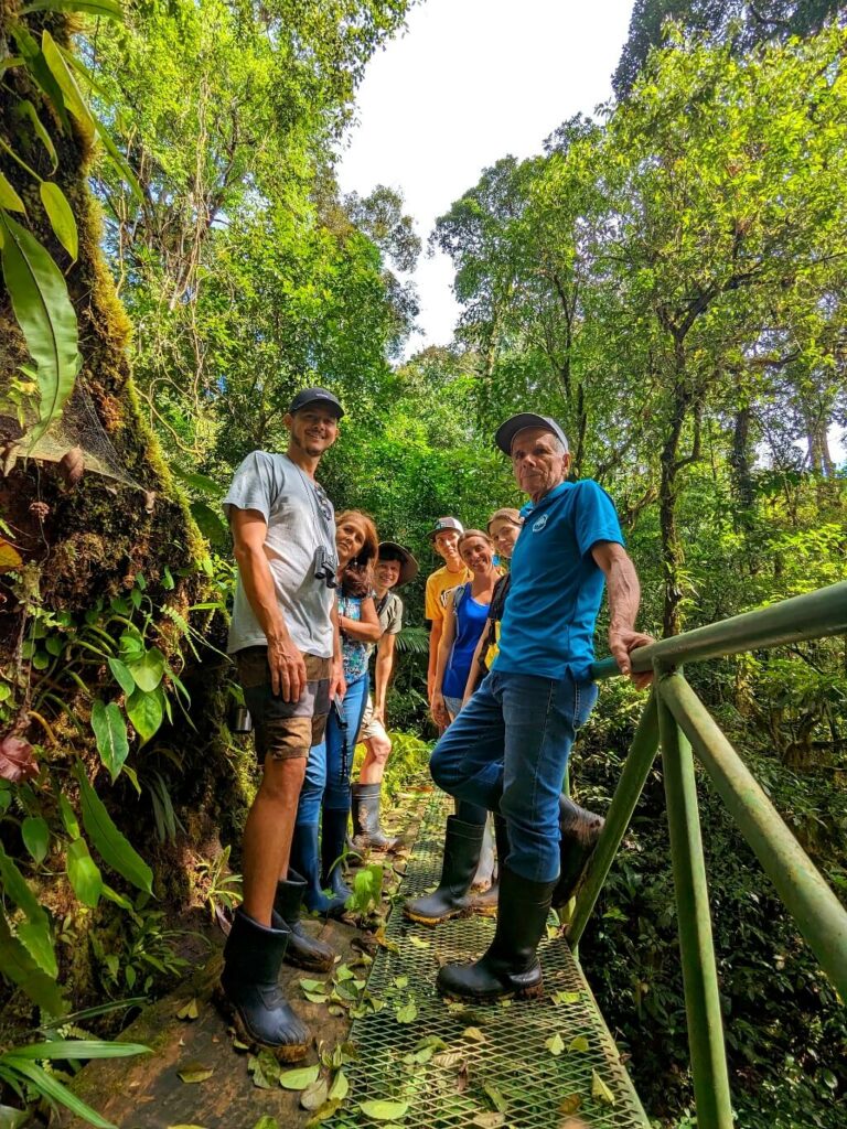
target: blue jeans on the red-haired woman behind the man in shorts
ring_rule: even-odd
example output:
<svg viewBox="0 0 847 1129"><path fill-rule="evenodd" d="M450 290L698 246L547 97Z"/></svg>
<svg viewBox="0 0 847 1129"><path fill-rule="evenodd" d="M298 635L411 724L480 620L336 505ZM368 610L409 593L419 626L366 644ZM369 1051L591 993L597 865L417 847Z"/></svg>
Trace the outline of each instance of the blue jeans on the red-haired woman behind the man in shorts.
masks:
<svg viewBox="0 0 847 1129"><path fill-rule="evenodd" d="M297 805L298 824L320 822L322 806L333 812L350 811L350 769L367 700L366 672L347 688L341 703L344 726L339 723L333 707L326 720L324 739L309 750L306 777Z"/></svg>

